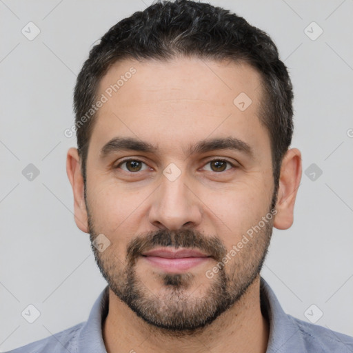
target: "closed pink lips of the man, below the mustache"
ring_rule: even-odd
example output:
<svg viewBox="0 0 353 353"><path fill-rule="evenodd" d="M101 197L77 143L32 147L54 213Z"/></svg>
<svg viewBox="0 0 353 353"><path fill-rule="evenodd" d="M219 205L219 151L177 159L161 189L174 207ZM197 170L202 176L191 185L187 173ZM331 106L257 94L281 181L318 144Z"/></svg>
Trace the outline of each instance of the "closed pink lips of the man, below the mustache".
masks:
<svg viewBox="0 0 353 353"><path fill-rule="evenodd" d="M142 259L164 272L180 273L212 259L212 256L199 250L158 248L143 252Z"/></svg>

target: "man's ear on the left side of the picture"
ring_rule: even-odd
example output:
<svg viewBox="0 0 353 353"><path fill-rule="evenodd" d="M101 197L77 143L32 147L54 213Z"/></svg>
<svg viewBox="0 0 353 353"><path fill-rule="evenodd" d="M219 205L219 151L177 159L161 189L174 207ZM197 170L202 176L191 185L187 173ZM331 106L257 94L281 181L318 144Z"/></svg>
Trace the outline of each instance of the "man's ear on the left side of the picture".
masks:
<svg viewBox="0 0 353 353"><path fill-rule="evenodd" d="M74 221L82 232L88 233L88 215L85 208L84 184L77 148L70 148L66 158L66 172L74 193Z"/></svg>

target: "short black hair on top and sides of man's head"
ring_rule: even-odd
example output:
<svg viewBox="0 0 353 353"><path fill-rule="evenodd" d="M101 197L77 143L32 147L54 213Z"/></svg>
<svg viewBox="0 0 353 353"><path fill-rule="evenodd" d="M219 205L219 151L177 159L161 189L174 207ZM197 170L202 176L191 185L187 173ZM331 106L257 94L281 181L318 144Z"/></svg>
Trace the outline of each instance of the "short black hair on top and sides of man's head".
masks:
<svg viewBox="0 0 353 353"><path fill-rule="evenodd" d="M103 75L123 59L167 61L181 55L232 59L248 63L261 74L259 119L270 135L276 194L283 155L293 134L293 92L288 70L263 30L229 10L189 0L158 1L134 12L112 26L90 50L74 88L77 145L84 181L88 144L97 114L92 113L84 124L81 118L87 117L97 100Z"/></svg>

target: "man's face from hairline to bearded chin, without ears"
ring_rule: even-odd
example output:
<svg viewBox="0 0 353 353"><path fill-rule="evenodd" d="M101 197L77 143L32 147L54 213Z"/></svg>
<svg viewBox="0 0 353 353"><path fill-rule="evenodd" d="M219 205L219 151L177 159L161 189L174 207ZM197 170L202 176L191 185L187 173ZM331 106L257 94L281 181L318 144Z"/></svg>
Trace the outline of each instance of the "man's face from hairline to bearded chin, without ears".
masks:
<svg viewBox="0 0 353 353"><path fill-rule="evenodd" d="M109 97L132 66L136 73ZM233 102L242 92L248 108L244 95L244 104ZM101 94L108 101L90 139L86 180L91 241L110 241L103 252L92 247L99 268L146 322L174 332L204 327L259 276L270 242L274 185L258 117L260 76L229 61L123 61L105 74ZM155 150L104 148L128 137ZM243 143L190 150L228 138ZM191 249L201 255L165 259Z"/></svg>

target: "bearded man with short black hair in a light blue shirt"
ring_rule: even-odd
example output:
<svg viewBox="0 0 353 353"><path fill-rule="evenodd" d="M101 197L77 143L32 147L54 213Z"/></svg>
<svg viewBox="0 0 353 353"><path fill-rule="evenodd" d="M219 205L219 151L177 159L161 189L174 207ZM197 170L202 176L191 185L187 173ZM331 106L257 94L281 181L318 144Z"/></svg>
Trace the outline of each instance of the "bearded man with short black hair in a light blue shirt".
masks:
<svg viewBox="0 0 353 353"><path fill-rule="evenodd" d="M86 323L12 352L353 352L260 271L293 223L301 152L276 46L206 3L155 3L90 51L67 171L108 286Z"/></svg>

